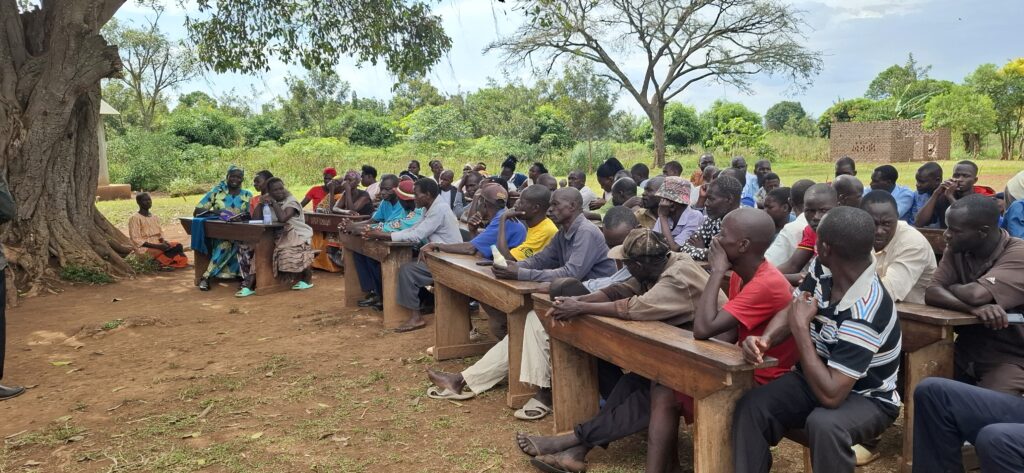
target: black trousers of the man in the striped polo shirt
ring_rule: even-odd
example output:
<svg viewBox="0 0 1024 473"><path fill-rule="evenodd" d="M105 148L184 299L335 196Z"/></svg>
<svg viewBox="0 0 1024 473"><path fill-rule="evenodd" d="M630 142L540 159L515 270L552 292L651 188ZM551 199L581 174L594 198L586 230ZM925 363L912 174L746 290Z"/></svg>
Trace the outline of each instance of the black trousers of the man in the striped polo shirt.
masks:
<svg viewBox="0 0 1024 473"><path fill-rule="evenodd" d="M814 471L853 473L857 462L852 445L881 435L897 415L898 407L852 392L839 407L823 407L802 375L785 374L754 388L736 403L735 471L768 473L771 447L787 431L803 428Z"/></svg>

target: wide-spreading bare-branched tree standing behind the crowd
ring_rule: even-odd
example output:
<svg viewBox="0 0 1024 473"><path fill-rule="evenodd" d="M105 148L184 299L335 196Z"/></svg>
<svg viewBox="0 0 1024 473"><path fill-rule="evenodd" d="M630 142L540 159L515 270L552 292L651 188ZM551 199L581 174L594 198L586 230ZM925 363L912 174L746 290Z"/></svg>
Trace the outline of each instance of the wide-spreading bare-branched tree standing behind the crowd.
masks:
<svg viewBox="0 0 1024 473"><path fill-rule="evenodd" d="M665 105L689 86L717 80L751 92L755 75L808 84L821 69L806 48L801 12L775 0L520 0L527 16L487 45L509 64L546 71L567 57L602 64L604 77L643 107L654 131L654 164L665 162ZM636 73L630 62L641 58Z"/></svg>

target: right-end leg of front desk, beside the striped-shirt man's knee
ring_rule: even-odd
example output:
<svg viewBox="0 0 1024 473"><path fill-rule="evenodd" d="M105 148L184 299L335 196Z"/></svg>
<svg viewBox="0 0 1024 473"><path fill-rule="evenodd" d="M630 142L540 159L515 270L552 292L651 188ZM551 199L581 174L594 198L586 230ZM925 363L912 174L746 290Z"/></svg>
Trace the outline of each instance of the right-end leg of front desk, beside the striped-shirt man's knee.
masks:
<svg viewBox="0 0 1024 473"><path fill-rule="evenodd" d="M693 472L732 472L732 413L736 401L753 385L754 379L741 386L709 394L693 403Z"/></svg>

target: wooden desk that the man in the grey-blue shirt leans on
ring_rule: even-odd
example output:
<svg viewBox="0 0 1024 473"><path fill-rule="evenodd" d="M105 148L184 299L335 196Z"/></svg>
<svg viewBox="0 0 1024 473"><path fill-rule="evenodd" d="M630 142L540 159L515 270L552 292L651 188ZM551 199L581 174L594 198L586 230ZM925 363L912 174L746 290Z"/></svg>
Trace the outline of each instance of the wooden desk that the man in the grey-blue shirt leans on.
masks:
<svg viewBox="0 0 1024 473"><path fill-rule="evenodd" d="M529 298L541 283L499 280L490 268L479 266L476 256L450 253L427 254L427 267L434 276L434 358L450 359L482 354L495 342L471 343L469 301L477 300L508 315L510 407L520 407L536 389L519 382L522 333L526 313L534 307Z"/></svg>

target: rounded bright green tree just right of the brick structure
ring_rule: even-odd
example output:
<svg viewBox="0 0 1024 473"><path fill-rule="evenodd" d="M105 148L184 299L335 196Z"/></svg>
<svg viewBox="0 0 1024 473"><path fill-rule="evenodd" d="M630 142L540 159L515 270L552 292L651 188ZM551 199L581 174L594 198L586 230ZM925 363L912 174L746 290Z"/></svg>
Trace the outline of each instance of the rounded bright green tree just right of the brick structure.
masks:
<svg viewBox="0 0 1024 473"><path fill-rule="evenodd" d="M981 137L995 130L995 105L987 95L967 86L957 86L928 103L926 128L949 128L964 136L964 146L975 158L981 152Z"/></svg>

